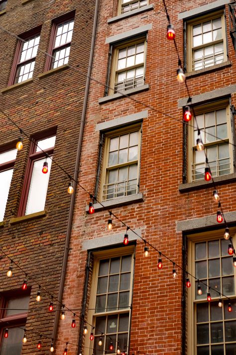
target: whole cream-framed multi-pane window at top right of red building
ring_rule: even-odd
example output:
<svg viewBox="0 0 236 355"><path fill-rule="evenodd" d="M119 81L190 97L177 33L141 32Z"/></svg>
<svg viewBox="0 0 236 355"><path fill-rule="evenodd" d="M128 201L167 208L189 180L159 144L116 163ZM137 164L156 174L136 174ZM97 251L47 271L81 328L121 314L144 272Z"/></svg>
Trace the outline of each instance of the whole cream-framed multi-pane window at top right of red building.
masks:
<svg viewBox="0 0 236 355"><path fill-rule="evenodd" d="M222 12L188 22L188 71L227 60L225 20Z"/></svg>

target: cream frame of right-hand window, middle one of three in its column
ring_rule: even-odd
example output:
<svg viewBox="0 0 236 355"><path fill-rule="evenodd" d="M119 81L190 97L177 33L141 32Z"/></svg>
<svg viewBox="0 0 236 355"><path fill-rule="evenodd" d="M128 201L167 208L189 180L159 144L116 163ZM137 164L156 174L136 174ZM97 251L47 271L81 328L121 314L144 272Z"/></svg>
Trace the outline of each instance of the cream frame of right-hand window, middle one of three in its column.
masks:
<svg viewBox="0 0 236 355"><path fill-rule="evenodd" d="M232 120L231 120L231 110L230 110L230 101L229 99L225 99L225 100L219 100L219 101L214 101L214 102L210 102L207 104L203 104L203 105L199 105L194 107L194 111L196 116L202 113L207 113L207 112L212 112L212 111L218 111L220 109L226 108L226 123L227 123L227 138L225 138L224 140L215 140L213 142L209 142L209 143L204 143L204 147L211 147L211 146L219 146L221 144L226 143L226 141L229 142L229 157L230 157L230 174L234 173L234 151L233 151L233 147L232 144L234 143L234 137L233 137L233 132L232 132ZM194 127L193 127L194 123L192 125L188 125L188 159L187 159L187 163L188 163L188 172L187 172L187 176L188 176L188 181L189 182L199 182L199 181L203 181L204 180L204 174L202 179L197 179L194 180L193 179L193 175L192 175L192 165L194 164L194 152L196 151L196 142L194 141ZM202 131L201 131L202 134ZM206 163L205 163L205 167L207 167ZM224 175L215 175L214 177L221 177L221 176L225 176L228 174L224 174Z"/></svg>

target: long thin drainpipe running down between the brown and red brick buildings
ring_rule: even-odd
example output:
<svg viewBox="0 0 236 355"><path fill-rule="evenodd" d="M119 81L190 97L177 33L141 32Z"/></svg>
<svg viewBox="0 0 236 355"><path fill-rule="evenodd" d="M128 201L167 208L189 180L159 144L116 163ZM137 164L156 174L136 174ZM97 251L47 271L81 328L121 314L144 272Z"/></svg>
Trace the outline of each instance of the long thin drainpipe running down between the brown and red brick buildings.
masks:
<svg viewBox="0 0 236 355"><path fill-rule="evenodd" d="M88 96L89 96L90 76L91 76L92 65L93 65L93 56L94 56L94 47L95 47L95 39L96 39L96 32L97 32L98 15L99 15L99 0L96 0L95 12L94 12L93 32L92 32L92 40L91 40L91 48L90 48L90 57L89 57L89 66L88 66L88 73L87 73L86 86L85 86L83 110L82 110L82 115L81 115L79 141L78 141L77 153L76 153L76 162L75 162L75 171L74 171L74 180L75 181L77 181L78 175L79 175L79 164L80 164L82 140L83 140L83 134L84 134L84 127L85 127L87 101L88 101ZM71 236L71 228L72 228L72 221L73 221L73 209L74 209L75 196L76 196L76 185L74 188L75 188L75 191L71 196L71 202L70 202L66 239L65 239L65 250L64 250L64 255L63 255L62 271L61 271L60 284L59 284L59 290L58 290L58 298L57 299L58 299L59 303L62 303L67 262L68 262L68 255L69 255L69 248L70 248L70 236ZM52 330L53 342L55 342L55 339L57 336L59 318L60 318L60 311L58 310L55 315L53 330Z"/></svg>

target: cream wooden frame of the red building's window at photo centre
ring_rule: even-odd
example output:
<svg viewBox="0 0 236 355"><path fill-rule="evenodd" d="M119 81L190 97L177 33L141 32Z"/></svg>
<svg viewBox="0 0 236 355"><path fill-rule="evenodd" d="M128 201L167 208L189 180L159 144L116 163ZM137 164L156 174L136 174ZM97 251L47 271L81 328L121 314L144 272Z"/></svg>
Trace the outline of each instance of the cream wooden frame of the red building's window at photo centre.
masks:
<svg viewBox="0 0 236 355"><path fill-rule="evenodd" d="M138 152L137 152L137 187L136 187L136 193L138 193L139 191L139 178L140 178L140 158L141 158L141 138L142 138L142 124L141 123L136 123L136 124L132 124L126 127L122 127L122 128L118 128L109 132L106 132L104 134L104 147L103 147L103 157L102 157L102 164L101 164L101 178L100 178L100 188L99 188L99 199L100 201L113 201L116 200L118 197L115 197L113 199L103 199L103 190L104 190L104 186L107 184L108 181L108 174L107 172L113 169L116 169L116 167L118 168L120 167L124 167L124 166L128 166L128 165L132 165L134 164L134 161L131 162L126 162L126 163L122 163L122 164L117 164L116 167L115 165L113 166L113 169L108 169L108 159L109 159L109 144L110 144L110 140L113 137L116 136L120 136L122 134L127 134L127 133L132 133L138 131L139 132L139 140L138 140ZM129 196L129 195L123 195L121 197L125 197L125 196ZM130 195L132 196L132 195Z"/></svg>

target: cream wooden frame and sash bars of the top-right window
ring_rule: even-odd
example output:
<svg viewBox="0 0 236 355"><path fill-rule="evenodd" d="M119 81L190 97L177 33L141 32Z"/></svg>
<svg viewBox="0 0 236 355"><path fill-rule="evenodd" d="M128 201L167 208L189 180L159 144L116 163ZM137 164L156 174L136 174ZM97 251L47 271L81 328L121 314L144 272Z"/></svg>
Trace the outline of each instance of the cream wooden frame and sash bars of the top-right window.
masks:
<svg viewBox="0 0 236 355"><path fill-rule="evenodd" d="M194 19L191 19L186 22L186 24L187 24L187 72L198 72L201 70L205 70L205 71L212 70L212 69L214 69L214 67L216 65L218 65L218 64L214 64L214 65L210 65L210 66L203 67L200 69L196 69L196 70L194 69L194 67L193 67L193 52L196 49L193 49L193 33L192 33L194 25L206 22L207 20L213 20L218 17L221 17L222 40L208 42L208 43L197 46L197 48L198 49L206 48L212 44L215 44L216 42L220 43L223 41L224 60L220 64L227 61L228 51L227 51L226 21L225 21L224 10L214 11L214 12L208 13L208 14L201 16L201 17L195 17Z"/></svg>

